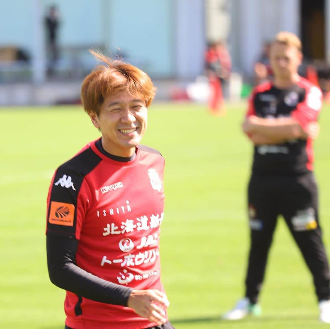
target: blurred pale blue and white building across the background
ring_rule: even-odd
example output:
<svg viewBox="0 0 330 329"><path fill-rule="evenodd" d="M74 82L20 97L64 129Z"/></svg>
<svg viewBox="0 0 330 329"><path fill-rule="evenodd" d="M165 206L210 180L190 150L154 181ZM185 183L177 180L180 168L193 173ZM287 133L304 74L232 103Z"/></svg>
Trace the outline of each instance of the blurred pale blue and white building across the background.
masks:
<svg viewBox="0 0 330 329"><path fill-rule="evenodd" d="M82 78L96 64L89 48L146 71L157 81L158 99L168 97L171 85L203 74L210 40L227 41L234 70L246 77L263 42L280 30L302 38L307 58L330 60L330 0L0 0L0 5L0 105L79 98ZM50 5L59 11L59 58L51 77L45 47Z"/></svg>

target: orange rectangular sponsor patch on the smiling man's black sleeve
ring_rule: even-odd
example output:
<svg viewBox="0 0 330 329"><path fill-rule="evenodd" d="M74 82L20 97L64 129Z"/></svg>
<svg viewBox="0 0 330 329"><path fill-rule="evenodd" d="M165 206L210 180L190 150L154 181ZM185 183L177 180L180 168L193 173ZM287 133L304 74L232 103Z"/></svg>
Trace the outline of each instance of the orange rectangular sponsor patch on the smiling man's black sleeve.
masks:
<svg viewBox="0 0 330 329"><path fill-rule="evenodd" d="M50 224L73 226L75 205L72 203L52 201L48 221Z"/></svg>

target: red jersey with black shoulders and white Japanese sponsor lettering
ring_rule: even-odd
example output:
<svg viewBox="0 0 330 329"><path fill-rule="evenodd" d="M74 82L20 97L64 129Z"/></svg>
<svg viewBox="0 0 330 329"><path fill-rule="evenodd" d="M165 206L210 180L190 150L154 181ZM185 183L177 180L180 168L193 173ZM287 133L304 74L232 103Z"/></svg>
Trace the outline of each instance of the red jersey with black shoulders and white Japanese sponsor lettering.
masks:
<svg viewBox="0 0 330 329"><path fill-rule="evenodd" d="M164 215L164 158L139 146L128 162L102 154L95 141L61 165L47 199L48 236L79 240L76 263L104 280L133 289L159 289L159 236ZM132 309L67 291L66 324L73 328L147 328ZM80 312L77 313L77 307Z"/></svg>

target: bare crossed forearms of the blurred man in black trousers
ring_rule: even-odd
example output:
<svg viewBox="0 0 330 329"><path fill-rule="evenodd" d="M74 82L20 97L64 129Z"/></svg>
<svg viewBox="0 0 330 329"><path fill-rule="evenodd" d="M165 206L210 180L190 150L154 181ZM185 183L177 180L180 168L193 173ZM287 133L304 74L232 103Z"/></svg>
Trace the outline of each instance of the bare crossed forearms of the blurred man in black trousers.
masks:
<svg viewBox="0 0 330 329"><path fill-rule="evenodd" d="M242 129L254 145L274 145L292 139L315 139L319 133L316 121L311 122L305 131L292 117L268 119L255 115L246 117Z"/></svg>

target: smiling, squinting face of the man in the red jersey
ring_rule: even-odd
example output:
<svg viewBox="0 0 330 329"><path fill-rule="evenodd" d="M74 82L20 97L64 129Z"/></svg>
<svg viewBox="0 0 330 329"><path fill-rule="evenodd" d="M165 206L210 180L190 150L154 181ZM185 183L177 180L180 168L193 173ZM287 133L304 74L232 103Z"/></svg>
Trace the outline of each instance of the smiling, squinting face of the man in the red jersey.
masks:
<svg viewBox="0 0 330 329"><path fill-rule="evenodd" d="M102 133L102 145L113 155L130 157L146 132L148 111L141 96L125 91L105 97L100 114L90 118Z"/></svg>

